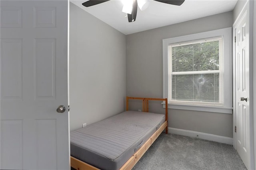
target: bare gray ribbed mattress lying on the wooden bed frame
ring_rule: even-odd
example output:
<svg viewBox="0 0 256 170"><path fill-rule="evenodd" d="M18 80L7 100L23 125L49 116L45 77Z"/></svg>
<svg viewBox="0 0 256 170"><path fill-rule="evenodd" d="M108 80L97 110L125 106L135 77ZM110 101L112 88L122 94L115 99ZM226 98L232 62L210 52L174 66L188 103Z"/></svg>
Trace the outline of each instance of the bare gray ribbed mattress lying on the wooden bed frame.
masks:
<svg viewBox="0 0 256 170"><path fill-rule="evenodd" d="M164 123L165 115L126 111L70 132L71 156L102 170L118 170Z"/></svg>

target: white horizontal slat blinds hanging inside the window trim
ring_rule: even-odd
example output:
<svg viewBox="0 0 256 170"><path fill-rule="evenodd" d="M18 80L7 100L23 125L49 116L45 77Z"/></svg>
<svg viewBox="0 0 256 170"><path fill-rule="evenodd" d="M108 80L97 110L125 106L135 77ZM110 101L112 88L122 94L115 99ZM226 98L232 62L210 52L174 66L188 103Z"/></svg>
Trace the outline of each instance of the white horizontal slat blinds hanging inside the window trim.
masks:
<svg viewBox="0 0 256 170"><path fill-rule="evenodd" d="M223 104L223 38L168 45L168 101Z"/></svg>

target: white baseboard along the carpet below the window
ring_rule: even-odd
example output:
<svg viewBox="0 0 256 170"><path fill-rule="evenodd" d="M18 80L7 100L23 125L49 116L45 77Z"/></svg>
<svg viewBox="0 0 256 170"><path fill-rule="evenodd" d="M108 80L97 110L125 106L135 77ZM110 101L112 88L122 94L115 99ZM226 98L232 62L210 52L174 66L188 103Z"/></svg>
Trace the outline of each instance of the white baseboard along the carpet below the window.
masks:
<svg viewBox="0 0 256 170"><path fill-rule="evenodd" d="M180 134L182 136L189 136L189 137L200 138L200 139L205 139L205 140L211 140L214 142L220 142L220 143L226 143L226 144L233 145L233 138L229 138L229 137L225 137L225 136L196 132L196 131L192 131L192 130L184 130L184 129L179 129L179 128L170 128L170 127L168 127L168 132L172 133L172 134Z"/></svg>

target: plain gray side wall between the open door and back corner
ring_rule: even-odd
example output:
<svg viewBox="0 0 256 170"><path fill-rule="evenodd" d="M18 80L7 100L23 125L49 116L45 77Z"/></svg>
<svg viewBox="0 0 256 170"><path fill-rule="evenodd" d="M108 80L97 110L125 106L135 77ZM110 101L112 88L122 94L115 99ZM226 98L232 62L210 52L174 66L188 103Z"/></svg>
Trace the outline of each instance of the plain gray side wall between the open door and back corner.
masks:
<svg viewBox="0 0 256 170"><path fill-rule="evenodd" d="M70 130L124 111L126 37L70 3Z"/></svg>

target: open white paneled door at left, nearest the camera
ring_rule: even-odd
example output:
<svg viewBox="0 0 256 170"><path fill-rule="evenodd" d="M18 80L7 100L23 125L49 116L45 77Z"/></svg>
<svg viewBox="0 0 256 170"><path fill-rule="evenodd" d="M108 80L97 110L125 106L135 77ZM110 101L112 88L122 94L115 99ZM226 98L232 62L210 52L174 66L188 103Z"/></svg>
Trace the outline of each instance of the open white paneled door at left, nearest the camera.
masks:
<svg viewBox="0 0 256 170"><path fill-rule="evenodd" d="M0 169L70 169L68 0L0 3Z"/></svg>

